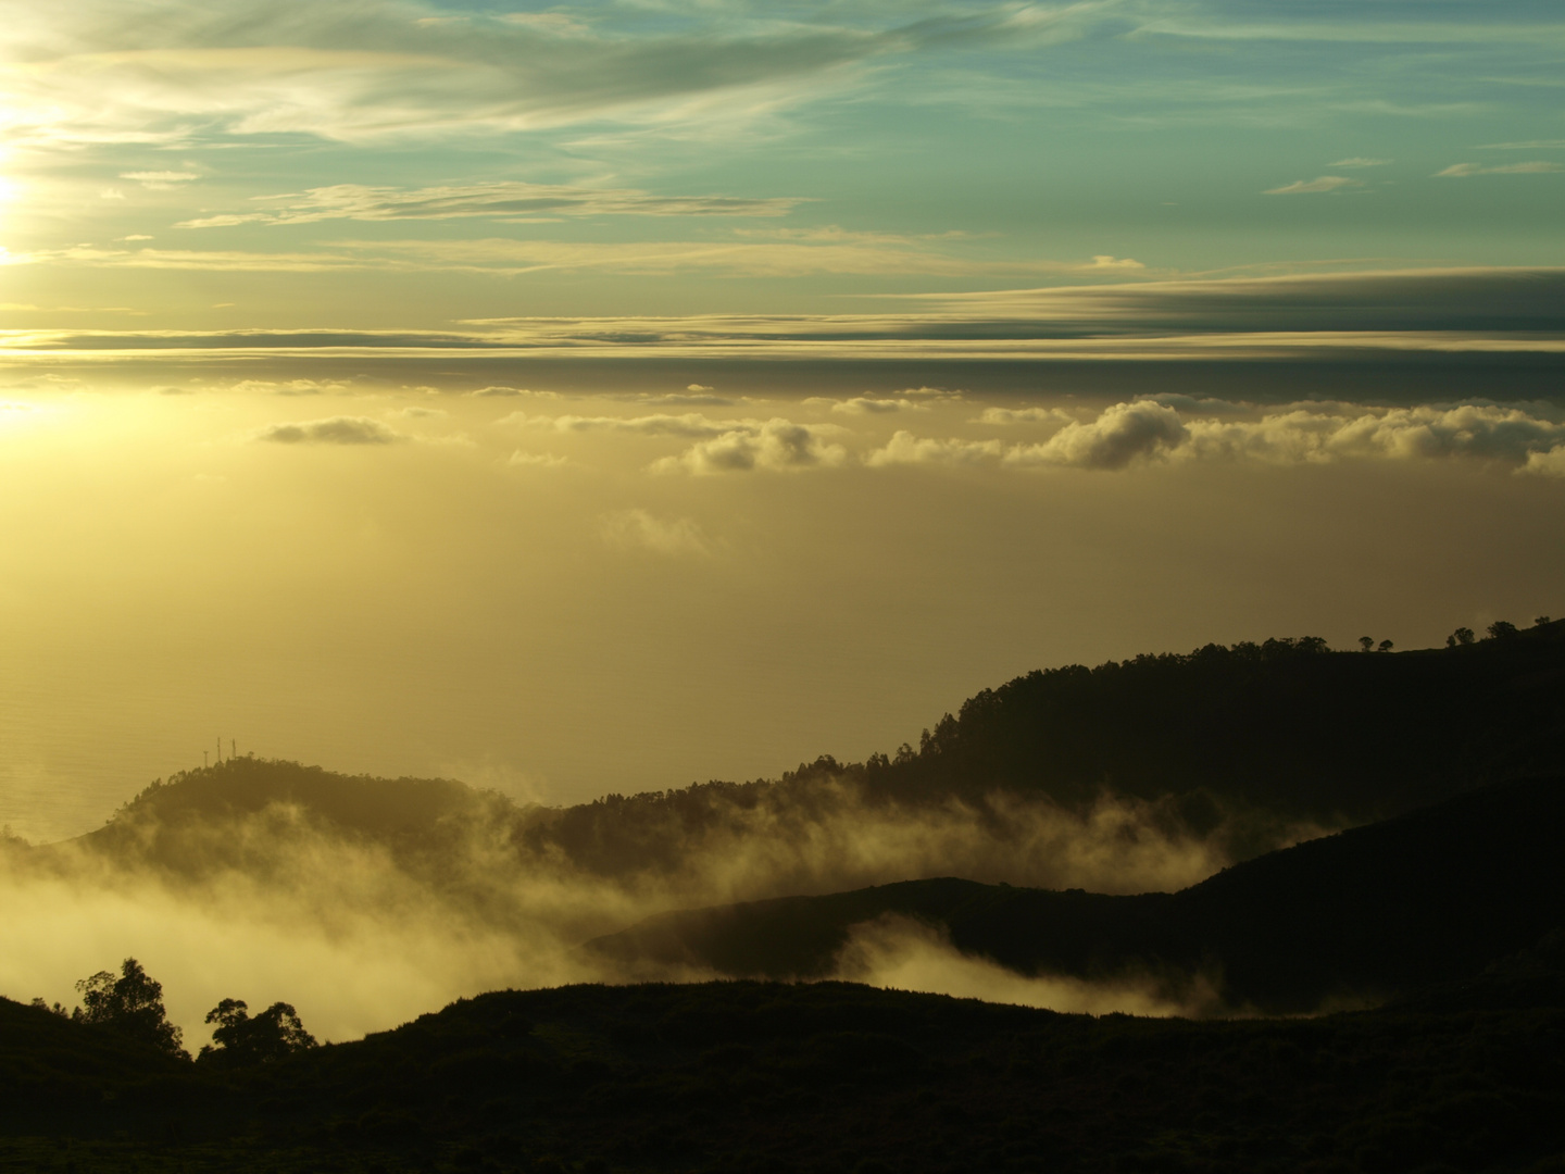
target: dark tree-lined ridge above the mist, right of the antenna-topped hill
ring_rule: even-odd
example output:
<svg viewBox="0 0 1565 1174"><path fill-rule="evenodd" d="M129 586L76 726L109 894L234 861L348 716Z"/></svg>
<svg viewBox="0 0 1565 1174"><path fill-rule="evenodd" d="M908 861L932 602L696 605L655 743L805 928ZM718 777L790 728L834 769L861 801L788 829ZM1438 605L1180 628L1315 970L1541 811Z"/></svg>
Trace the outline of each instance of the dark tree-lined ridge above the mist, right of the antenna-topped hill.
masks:
<svg viewBox="0 0 1565 1174"><path fill-rule="evenodd" d="M1565 770L1565 620L1457 648L1333 653L1315 639L1019 676L969 698L894 758L801 764L778 783L609 795L523 833L582 867L667 866L734 812L916 808L997 792L1081 809L1144 800L1175 834L1218 834L1243 859L1288 823L1363 823L1482 783ZM997 816L997 819L1003 819Z"/></svg>

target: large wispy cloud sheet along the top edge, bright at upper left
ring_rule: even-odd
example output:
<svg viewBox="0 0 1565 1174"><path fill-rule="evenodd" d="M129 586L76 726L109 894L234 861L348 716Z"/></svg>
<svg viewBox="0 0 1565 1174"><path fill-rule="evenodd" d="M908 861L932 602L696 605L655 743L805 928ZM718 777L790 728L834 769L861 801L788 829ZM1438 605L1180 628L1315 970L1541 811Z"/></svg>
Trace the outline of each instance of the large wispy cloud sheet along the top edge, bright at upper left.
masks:
<svg viewBox="0 0 1565 1174"><path fill-rule="evenodd" d="M862 88L873 63L1085 36L1116 5L923 0L768 13L598 5L460 14L421 3L34 5L8 25L8 138L22 146L228 146L537 135L618 122L687 131ZM6 69L9 67L9 69ZM91 85L83 85L89 78Z"/></svg>

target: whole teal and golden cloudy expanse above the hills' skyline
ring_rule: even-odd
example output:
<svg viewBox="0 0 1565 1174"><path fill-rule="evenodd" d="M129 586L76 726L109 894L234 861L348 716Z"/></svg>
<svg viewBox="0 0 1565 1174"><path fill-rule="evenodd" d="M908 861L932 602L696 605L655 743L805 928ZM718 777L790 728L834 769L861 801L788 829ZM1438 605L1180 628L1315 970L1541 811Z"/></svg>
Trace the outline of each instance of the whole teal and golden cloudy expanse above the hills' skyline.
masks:
<svg viewBox="0 0 1565 1174"><path fill-rule="evenodd" d="M1562 56L1523 0L11 5L0 822L219 736L772 776L1562 612Z"/></svg>

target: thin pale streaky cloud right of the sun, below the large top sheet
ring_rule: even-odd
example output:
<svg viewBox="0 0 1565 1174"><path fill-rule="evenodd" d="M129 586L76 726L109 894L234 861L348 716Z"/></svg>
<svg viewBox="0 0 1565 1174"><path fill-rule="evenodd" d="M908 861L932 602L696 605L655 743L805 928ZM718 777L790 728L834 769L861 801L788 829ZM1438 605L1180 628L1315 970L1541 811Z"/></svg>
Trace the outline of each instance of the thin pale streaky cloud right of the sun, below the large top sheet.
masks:
<svg viewBox="0 0 1565 1174"><path fill-rule="evenodd" d="M152 174L152 172L147 172ZM156 172L171 175L172 172ZM189 178L196 178L191 175ZM482 216L532 221L557 216L786 216L798 199L734 196L649 196L631 188L571 188L502 180L434 188L371 188L338 183L285 196L255 196L258 211L182 221L175 229L318 221L444 221Z"/></svg>

